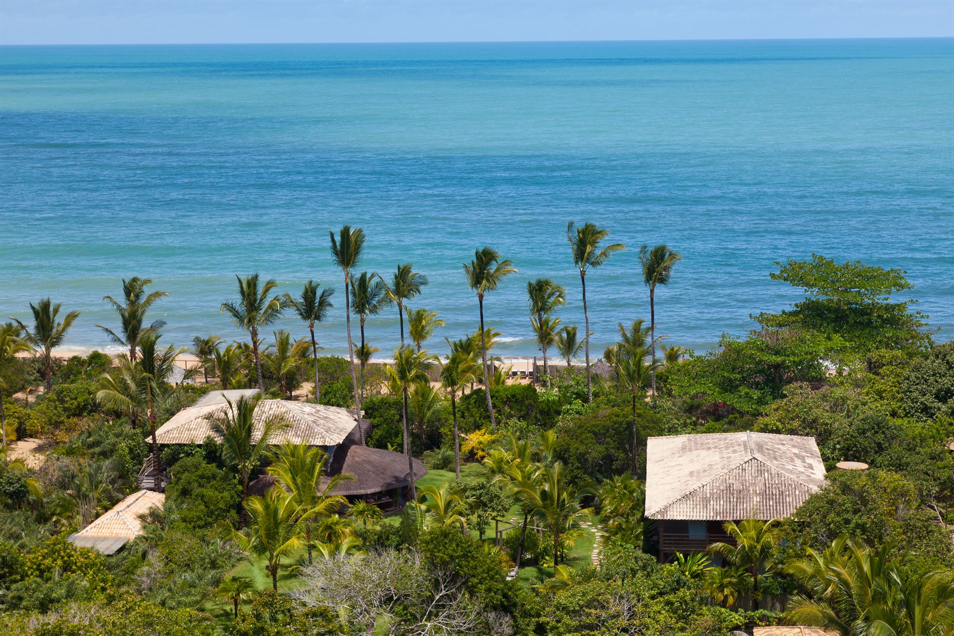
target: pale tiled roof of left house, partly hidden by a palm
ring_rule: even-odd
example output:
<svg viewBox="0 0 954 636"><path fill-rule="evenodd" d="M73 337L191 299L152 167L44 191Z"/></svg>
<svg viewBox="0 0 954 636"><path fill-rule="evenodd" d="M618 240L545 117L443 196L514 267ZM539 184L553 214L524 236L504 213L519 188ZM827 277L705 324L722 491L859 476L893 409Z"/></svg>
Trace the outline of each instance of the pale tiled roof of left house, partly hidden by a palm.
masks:
<svg viewBox="0 0 954 636"><path fill-rule="evenodd" d="M200 444L208 437L215 438L210 417L228 408L227 402L184 408L158 428L156 441L160 444ZM290 400L260 400L255 409L257 435L261 432L262 422L274 416L291 424L290 428L281 431L275 439L269 440L270 443L276 444L286 439L313 446L338 444L344 441L355 427L352 412L337 406ZM150 441L150 438L146 439L147 443Z"/></svg>

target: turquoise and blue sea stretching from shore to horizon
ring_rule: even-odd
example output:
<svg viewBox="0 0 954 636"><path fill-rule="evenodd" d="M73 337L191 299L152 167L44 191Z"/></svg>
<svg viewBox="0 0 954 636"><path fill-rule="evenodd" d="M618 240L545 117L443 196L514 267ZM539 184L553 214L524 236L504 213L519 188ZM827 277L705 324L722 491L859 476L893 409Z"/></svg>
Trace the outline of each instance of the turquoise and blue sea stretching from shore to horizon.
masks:
<svg viewBox="0 0 954 636"><path fill-rule="evenodd" d="M582 325L578 219L631 248L588 278L597 352L648 318L637 251L663 241L685 258L658 293L674 343L784 307L773 262L813 252L904 268L950 339L952 98L952 39L0 47L0 317L50 295L83 312L70 344L102 347L100 298L138 275L177 343L233 338L218 306L258 271L337 287L320 338L341 352L327 230L350 223L366 269L430 277L415 304L450 337L477 319L461 263L512 258L487 319L531 356L529 277ZM368 320L384 353L396 322Z"/></svg>

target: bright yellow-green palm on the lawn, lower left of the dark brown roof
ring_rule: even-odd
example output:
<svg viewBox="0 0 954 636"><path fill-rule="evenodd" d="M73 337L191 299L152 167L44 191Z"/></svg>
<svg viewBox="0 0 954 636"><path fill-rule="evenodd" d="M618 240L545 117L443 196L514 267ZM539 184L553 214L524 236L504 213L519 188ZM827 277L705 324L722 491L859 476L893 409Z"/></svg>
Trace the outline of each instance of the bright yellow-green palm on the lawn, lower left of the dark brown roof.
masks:
<svg viewBox="0 0 954 636"><path fill-rule="evenodd" d="M265 558L272 589L278 591L281 558L301 547L310 514L302 514L295 499L281 488L270 489L264 497L249 497L243 509L247 511L248 526L245 534L232 530L232 539L246 552Z"/></svg>

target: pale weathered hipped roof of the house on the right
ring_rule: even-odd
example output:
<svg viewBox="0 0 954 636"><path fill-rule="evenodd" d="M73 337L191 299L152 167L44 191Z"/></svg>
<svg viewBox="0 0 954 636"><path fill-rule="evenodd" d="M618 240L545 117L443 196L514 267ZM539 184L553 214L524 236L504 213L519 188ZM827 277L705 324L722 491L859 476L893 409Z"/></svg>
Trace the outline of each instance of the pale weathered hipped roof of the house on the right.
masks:
<svg viewBox="0 0 954 636"><path fill-rule="evenodd" d="M646 516L702 521L789 517L824 481L815 438L767 433L650 438Z"/></svg>

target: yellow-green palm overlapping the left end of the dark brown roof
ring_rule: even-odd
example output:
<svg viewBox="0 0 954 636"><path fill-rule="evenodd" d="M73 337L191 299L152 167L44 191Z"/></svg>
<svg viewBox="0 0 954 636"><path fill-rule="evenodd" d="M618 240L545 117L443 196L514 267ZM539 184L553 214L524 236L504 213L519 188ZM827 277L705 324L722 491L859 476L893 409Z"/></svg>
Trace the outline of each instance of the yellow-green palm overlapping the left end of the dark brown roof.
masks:
<svg viewBox="0 0 954 636"><path fill-rule="evenodd" d="M308 564L312 564L311 528L315 518L329 517L347 500L332 495L342 482L354 480L347 473L332 475L321 486L328 454L321 448L285 441L272 453L275 462L266 468L275 482L298 504L300 516L308 514L304 524L304 541L308 547Z"/></svg>

